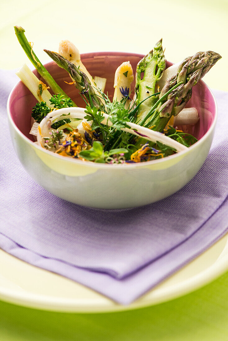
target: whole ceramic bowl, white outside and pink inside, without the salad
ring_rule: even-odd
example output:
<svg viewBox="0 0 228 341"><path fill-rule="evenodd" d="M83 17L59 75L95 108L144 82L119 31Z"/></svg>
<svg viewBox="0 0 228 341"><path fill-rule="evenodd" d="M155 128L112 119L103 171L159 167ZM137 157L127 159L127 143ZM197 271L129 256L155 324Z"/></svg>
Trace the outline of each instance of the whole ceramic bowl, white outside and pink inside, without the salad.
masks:
<svg viewBox="0 0 228 341"><path fill-rule="evenodd" d="M113 95L116 68L130 61L133 71L142 55L98 52L81 55L92 76L107 78L106 91ZM171 63L167 62L167 67ZM54 62L45 65L57 83L79 106L83 106L68 73ZM34 73L42 79L36 71ZM110 96L111 97L111 96ZM194 88L189 107L198 109L200 120L190 128L199 141L186 151L164 159L137 164L82 162L50 152L33 143L29 135L31 108L36 99L19 81L10 93L7 109L11 138L28 174L44 189L72 203L95 208L127 208L163 199L185 186L198 172L209 152L217 117L211 90L203 81ZM181 128L181 127L180 127ZM26 185L25 185L26 186Z"/></svg>

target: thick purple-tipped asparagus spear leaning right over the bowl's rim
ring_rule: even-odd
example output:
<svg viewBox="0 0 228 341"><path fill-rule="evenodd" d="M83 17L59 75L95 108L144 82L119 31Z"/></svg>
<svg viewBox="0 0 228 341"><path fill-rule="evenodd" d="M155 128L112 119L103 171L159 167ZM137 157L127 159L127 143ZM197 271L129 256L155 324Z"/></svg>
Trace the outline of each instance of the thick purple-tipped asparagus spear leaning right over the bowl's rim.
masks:
<svg viewBox="0 0 228 341"><path fill-rule="evenodd" d="M172 115L185 107L192 95L192 87L222 58L213 51L198 52L180 63L175 76L168 79L161 90L159 100L149 110L141 125L162 132Z"/></svg>

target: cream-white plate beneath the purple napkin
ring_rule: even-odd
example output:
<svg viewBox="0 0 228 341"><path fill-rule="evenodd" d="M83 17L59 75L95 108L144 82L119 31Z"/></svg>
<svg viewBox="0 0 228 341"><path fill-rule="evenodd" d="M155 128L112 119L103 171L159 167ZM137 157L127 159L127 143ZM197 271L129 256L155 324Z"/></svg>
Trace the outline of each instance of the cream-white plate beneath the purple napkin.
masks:
<svg viewBox="0 0 228 341"><path fill-rule="evenodd" d="M65 312L107 312L155 305L194 291L228 270L228 234L169 279L129 306L0 250L0 299Z"/></svg>

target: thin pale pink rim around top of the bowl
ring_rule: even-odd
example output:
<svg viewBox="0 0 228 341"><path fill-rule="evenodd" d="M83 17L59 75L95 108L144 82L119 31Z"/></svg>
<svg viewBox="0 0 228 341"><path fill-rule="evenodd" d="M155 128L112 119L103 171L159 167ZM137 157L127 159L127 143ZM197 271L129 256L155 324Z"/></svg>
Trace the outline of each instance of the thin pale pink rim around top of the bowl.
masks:
<svg viewBox="0 0 228 341"><path fill-rule="evenodd" d="M130 52L118 52L118 51L101 51L101 52L88 52L88 53L83 53L81 54L82 58L88 57L88 58L92 58L92 56L135 56L135 57L144 57L144 55L142 54L137 54L137 53L130 53ZM169 61L167 61L169 62ZM172 63L172 62L170 62ZM44 66L48 67L49 65L53 65L55 64L53 61L50 61L48 63L45 63ZM32 72L38 72L36 69L33 69ZM32 142L27 136L25 136L21 130L19 130L16 126L16 124L14 123L12 116L11 116L11 111L10 111L10 102L11 102L11 97L13 95L13 92L15 91L16 87L19 84L23 84L23 82L21 80L19 80L13 87L13 89L11 90L9 97L8 97L8 101L7 101L7 105L6 105L6 109L7 109L7 114L8 114L8 120L10 121L11 125L13 126L14 130L21 136L21 138L28 144L31 145L32 148L38 149L44 153L47 153L48 155L52 155L52 157L59 159L60 161L67 161L70 162L72 164L75 165L79 165L79 166L86 166L86 167L95 167L95 168L107 168L110 169L110 167L115 167L115 169L123 169L123 167L128 167L128 169L134 169L135 167L145 167L145 166L150 166L150 165L155 165L155 164L160 164L160 163L165 163L165 162L169 162L169 160L174 160L175 158L178 157L182 157L185 154L189 153L190 151L193 151L195 148L199 147L205 140L206 138L213 132L216 121L217 121L217 112L218 112L218 107L217 107L217 102L215 100L214 94L212 92L212 90L209 88L209 86L206 85L206 83L203 80L200 80L200 83L203 84L211 93L212 98L214 100L214 104L215 104L215 116L213 118L211 127L209 128L209 130L207 130L207 132L201 137L200 140L198 140L195 144L193 144L192 146L188 147L186 150L177 152L176 154L173 155L169 155L165 158L161 158L161 159L157 159L157 160L151 160L151 161L147 161L147 162L137 162L137 163L123 163L123 164L107 164L107 163L96 163L96 162L92 162L92 161L82 161L79 159L74 159L74 158L66 158L63 155L59 155L57 153L54 153L52 151L46 150L45 148L42 148L41 146L39 146L38 144ZM25 86L23 84L23 86Z"/></svg>

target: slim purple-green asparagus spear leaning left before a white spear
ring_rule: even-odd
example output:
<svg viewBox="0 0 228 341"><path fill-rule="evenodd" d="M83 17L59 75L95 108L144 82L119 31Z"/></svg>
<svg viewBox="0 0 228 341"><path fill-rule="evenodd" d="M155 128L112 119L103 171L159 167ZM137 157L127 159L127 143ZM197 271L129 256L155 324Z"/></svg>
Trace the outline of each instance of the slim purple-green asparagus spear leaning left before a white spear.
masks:
<svg viewBox="0 0 228 341"><path fill-rule="evenodd" d="M90 80L86 76L86 74L80 71L75 64L71 63L69 60L59 55L58 53L49 50L44 51L49 55L49 57L54 60L54 62L60 68L63 68L64 70L69 72L70 76L75 80L76 88L79 89L81 94L85 95L89 103L91 103L92 100L93 106L101 111L104 111L104 104L95 93L94 88L92 87Z"/></svg>

